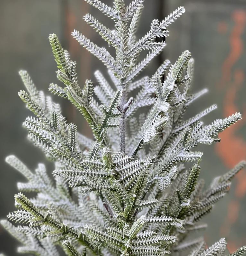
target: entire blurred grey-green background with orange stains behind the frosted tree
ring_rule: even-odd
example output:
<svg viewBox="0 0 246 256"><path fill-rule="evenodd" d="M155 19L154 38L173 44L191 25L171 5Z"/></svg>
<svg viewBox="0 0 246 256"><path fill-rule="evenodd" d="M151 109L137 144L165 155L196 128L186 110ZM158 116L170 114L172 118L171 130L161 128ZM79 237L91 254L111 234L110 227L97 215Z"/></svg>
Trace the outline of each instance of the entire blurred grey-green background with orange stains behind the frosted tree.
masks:
<svg viewBox="0 0 246 256"><path fill-rule="evenodd" d="M112 0L103 0L111 5ZM126 1L127 3L129 1ZM184 5L186 13L169 28L167 47L146 70L151 74L165 58L174 62L184 50L195 58L193 90L204 87L209 93L189 109L196 114L211 104L218 109L207 116L206 123L240 111L244 117L238 124L220 134L222 141L214 146L199 146L204 151L202 177L209 182L240 160L246 158L246 1L245 0L145 0L139 37L149 30L154 18ZM1 0L0 1L0 217L14 210L13 195L17 181L23 177L10 168L4 158L17 155L31 169L39 162L47 163L42 152L26 139L22 122L30 112L19 99L23 89L18 75L27 70L36 86L48 93L50 82L57 82L56 64L48 43L49 33L56 33L73 60L77 61L80 84L93 78L93 72L105 68L86 52L70 35L74 29L83 32L99 46L106 46L97 33L83 21L83 15L92 13L103 24L113 28L111 21L83 0ZM91 136L88 126L66 100L53 96L63 106L68 121L74 121L80 132ZM53 166L47 163L50 172ZM208 245L225 237L233 252L246 244L246 170L233 181L230 193L206 217L209 228L205 237ZM17 242L0 227L0 252L16 254Z"/></svg>

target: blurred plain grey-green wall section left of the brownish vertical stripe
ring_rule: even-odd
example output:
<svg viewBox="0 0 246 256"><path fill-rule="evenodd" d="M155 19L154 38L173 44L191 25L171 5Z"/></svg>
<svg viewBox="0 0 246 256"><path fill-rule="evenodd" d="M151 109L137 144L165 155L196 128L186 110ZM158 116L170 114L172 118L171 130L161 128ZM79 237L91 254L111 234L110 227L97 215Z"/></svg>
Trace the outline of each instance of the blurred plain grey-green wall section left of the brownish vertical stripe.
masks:
<svg viewBox="0 0 246 256"><path fill-rule="evenodd" d="M43 154L26 140L22 128L30 112L18 97L23 89L18 71L30 72L38 88L47 90L55 81L55 68L48 43L48 33L61 34L59 1L0 1L0 215L5 217L14 210L13 195L21 175L7 166L5 156L16 154L30 168L44 161ZM17 242L0 227L0 251L16 255Z"/></svg>

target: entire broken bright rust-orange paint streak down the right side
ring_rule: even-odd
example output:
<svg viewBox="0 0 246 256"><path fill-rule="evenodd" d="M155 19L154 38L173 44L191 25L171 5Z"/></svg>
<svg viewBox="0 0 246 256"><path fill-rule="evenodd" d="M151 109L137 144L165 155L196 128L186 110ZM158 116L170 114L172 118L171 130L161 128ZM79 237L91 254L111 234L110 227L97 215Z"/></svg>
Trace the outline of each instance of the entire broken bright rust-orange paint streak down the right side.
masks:
<svg viewBox="0 0 246 256"><path fill-rule="evenodd" d="M241 35L244 31L246 23L246 12L235 11L232 15L235 26L230 36L231 52L226 58L222 68L222 79L219 83L220 87L225 87L232 79L232 68L236 61L240 58L243 52L243 42ZM236 106L236 96L241 89L244 82L243 71L234 72L234 82L229 84L229 90L227 90L224 100L224 116L229 116L235 112L238 112ZM237 162L245 158L246 156L246 143L242 136L236 136L238 129L243 125L243 122L233 125L220 134L222 142L216 145L216 151L220 157L224 160L224 163L229 168L233 167ZM235 195L237 198L242 198L246 193L246 172L241 171L237 176L237 186ZM230 232L232 223L235 223L240 210L239 200L234 200L228 205L228 214L223 226L221 227L222 235L227 236ZM237 249L238 242L228 241L228 250L233 252Z"/></svg>

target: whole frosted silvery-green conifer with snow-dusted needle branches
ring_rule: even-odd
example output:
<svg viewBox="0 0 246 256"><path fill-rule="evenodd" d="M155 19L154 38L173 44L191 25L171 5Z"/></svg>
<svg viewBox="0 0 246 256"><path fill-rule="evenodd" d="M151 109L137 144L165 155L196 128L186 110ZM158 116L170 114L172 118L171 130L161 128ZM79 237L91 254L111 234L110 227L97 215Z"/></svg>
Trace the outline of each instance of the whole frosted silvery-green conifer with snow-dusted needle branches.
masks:
<svg viewBox="0 0 246 256"><path fill-rule="evenodd" d="M36 89L26 71L20 71L27 91L19 96L36 116L23 125L28 138L54 162L54 179L43 164L31 171L17 157L8 156L6 161L28 182L18 183L17 211L2 225L22 242L19 252L35 255L59 255L57 246L76 256L179 255L180 251L190 256L224 255L225 239L205 250L203 237L194 240L192 234L206 228L200 219L228 192L245 162L216 177L204 190L199 179L202 152L194 147L218 142L218 134L240 120L241 114L205 125L201 118L216 109L213 105L183 118L189 105L206 93L190 90L194 61L189 51L174 64L163 62L152 77L138 76L165 47L156 37L168 35L167 27L184 8L161 22L154 20L149 32L137 40L144 0L133 0L129 6L114 0L113 7L99 0L87 2L114 21L115 30L110 30L92 15L84 16L115 48L116 57L78 31L72 35L105 64L111 81L96 71L95 83L86 81L81 89L76 63L57 36L50 34L57 79L64 86L51 83L49 90L75 105L94 139L67 123L60 106ZM145 50L149 53L139 61L139 53ZM143 107L151 108L140 114ZM37 195L29 199L22 194L26 192ZM231 255L245 251L242 247Z"/></svg>

